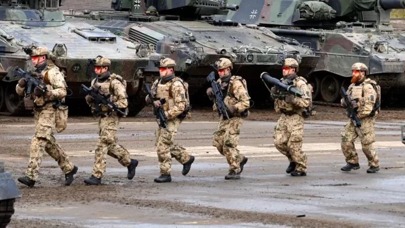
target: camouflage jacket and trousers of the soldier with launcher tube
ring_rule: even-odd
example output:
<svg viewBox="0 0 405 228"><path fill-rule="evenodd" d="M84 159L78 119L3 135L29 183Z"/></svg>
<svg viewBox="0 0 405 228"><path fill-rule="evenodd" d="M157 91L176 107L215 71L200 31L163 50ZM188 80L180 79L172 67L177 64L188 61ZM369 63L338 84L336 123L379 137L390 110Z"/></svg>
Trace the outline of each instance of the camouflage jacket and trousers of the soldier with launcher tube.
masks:
<svg viewBox="0 0 405 228"><path fill-rule="evenodd" d="M306 172L307 155L302 151L302 140L304 136L304 118L302 111L308 107L310 96L307 82L296 74L287 79L281 79L282 83L292 85L303 92L301 98L295 97L296 103L287 103L284 99L275 97L274 108L276 113L281 113L274 130L274 145L281 154L287 156L288 160L296 164L297 171Z"/></svg>

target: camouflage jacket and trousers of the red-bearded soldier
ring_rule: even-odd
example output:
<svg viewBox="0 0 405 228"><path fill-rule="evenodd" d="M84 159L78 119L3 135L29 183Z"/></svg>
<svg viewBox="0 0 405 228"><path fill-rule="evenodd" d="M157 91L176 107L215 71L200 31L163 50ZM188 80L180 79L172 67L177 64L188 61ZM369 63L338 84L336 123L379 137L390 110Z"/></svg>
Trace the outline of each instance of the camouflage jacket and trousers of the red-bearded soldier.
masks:
<svg viewBox="0 0 405 228"><path fill-rule="evenodd" d="M358 164L358 155L356 153L356 148L354 147L354 141L357 137L360 137L362 150L369 161L369 166L379 167L378 155L373 147L373 142L375 142L374 124L378 111L376 111L374 115L371 115L377 99L377 92L372 84L377 85L373 80L365 79L358 85L351 84L349 86L347 95L352 99L358 99L357 116L361 121L363 136L361 136L360 131L353 125L353 123L349 121L341 133L341 146L343 155L346 157L346 162L349 164ZM341 100L341 103L344 103L343 99Z"/></svg>

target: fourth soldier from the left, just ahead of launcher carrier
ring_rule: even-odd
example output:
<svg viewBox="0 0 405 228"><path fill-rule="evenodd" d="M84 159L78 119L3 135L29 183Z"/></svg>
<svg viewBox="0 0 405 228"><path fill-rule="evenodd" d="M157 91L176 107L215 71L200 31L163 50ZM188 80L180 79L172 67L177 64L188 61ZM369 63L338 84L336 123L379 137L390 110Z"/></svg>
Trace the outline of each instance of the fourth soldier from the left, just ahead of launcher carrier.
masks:
<svg viewBox="0 0 405 228"><path fill-rule="evenodd" d="M225 156L229 164L229 173L226 180L240 179L240 173L244 170L248 158L240 154L236 148L239 142L239 133L243 119L249 114L250 96L246 81L239 76L231 74L232 62L227 58L220 58L216 62L224 103L230 119L220 116L217 131L214 132L213 146L217 147L219 153ZM207 89L207 95L211 100L214 98L213 89ZM216 110L214 103L214 110Z"/></svg>

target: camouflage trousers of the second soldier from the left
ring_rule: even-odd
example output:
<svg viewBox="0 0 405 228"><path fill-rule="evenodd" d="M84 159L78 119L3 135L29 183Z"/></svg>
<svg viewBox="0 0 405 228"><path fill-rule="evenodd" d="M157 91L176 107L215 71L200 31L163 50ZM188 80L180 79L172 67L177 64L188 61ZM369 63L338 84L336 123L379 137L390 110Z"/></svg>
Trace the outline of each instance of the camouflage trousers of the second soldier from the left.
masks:
<svg viewBox="0 0 405 228"><path fill-rule="evenodd" d="M117 128L119 117L108 116L99 120L99 139L94 154L94 166L92 175L102 178L105 173L107 155L118 160L119 164L127 167L131 163L130 153L127 149L117 143Z"/></svg>

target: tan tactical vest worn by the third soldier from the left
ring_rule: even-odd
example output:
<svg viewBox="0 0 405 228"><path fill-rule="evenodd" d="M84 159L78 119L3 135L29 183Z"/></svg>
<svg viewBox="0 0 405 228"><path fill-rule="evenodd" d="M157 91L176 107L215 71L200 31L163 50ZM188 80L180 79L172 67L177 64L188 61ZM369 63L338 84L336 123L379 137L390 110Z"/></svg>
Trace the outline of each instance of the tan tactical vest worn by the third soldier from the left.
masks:
<svg viewBox="0 0 405 228"><path fill-rule="evenodd" d="M190 107L190 99L188 96L188 83L183 82L182 79L179 77L174 77L172 80L165 84L160 83L161 80L156 80L153 84L153 88L155 88L156 98L159 99L166 99L166 102L163 104L163 109L165 111L169 111L170 108L175 106L174 97L172 94L172 87L174 82L181 82L185 90L185 101L186 101L186 110Z"/></svg>

